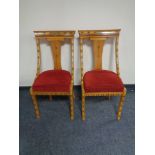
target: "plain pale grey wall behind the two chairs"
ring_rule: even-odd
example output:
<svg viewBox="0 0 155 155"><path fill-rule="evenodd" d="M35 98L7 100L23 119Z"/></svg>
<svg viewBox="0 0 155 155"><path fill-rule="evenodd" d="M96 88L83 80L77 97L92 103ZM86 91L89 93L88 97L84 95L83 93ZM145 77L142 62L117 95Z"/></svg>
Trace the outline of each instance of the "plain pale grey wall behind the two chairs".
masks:
<svg viewBox="0 0 155 155"><path fill-rule="evenodd" d="M36 72L33 30L78 30L121 28L120 69L125 84L135 83L134 0L20 0L20 86L30 86ZM75 37L75 85L80 84L78 35ZM105 69L115 70L114 53L107 41ZM88 43L89 45L89 43ZM50 48L42 45L42 70L53 67ZM62 65L70 70L69 46L62 47ZM84 46L85 71L93 64L90 46Z"/></svg>

